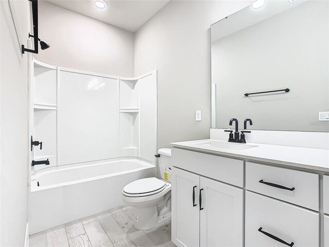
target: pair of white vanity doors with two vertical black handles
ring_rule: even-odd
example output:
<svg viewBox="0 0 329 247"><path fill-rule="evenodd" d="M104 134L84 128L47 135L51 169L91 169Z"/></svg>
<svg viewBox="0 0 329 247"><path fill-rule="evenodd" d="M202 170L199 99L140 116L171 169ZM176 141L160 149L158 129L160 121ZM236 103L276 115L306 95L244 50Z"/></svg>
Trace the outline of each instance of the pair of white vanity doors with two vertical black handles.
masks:
<svg viewBox="0 0 329 247"><path fill-rule="evenodd" d="M243 189L172 168L172 241L178 246L243 245Z"/></svg>

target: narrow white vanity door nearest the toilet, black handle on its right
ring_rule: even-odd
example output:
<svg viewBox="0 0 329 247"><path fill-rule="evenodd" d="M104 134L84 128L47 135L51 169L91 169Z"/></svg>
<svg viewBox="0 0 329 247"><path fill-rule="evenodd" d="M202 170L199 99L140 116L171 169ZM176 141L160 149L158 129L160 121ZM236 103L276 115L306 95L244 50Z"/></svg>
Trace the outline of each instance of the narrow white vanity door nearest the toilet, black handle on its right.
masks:
<svg viewBox="0 0 329 247"><path fill-rule="evenodd" d="M199 246L199 179L199 175L172 168L171 238L178 247Z"/></svg>

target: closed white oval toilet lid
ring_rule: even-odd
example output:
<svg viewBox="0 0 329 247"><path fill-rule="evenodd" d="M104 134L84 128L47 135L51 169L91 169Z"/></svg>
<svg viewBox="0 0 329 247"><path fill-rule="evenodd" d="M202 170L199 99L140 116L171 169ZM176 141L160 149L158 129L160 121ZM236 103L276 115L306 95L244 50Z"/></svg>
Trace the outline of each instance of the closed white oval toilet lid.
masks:
<svg viewBox="0 0 329 247"><path fill-rule="evenodd" d="M143 194L163 190L166 183L157 178L139 179L124 186L123 192L127 194Z"/></svg>

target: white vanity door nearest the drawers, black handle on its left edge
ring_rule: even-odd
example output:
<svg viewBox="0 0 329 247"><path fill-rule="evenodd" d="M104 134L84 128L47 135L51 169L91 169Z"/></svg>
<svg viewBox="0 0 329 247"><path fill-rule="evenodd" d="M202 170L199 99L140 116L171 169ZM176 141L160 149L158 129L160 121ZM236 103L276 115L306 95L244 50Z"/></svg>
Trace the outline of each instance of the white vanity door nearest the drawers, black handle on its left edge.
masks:
<svg viewBox="0 0 329 247"><path fill-rule="evenodd" d="M200 246L243 246L243 189L200 177Z"/></svg>

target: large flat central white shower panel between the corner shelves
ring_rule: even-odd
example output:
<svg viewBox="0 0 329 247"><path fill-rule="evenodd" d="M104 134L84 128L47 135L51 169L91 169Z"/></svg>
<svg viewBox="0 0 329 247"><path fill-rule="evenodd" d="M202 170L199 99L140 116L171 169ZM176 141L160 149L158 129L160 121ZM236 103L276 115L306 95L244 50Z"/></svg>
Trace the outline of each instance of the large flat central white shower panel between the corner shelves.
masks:
<svg viewBox="0 0 329 247"><path fill-rule="evenodd" d="M118 157L117 78L60 71L58 163Z"/></svg>

